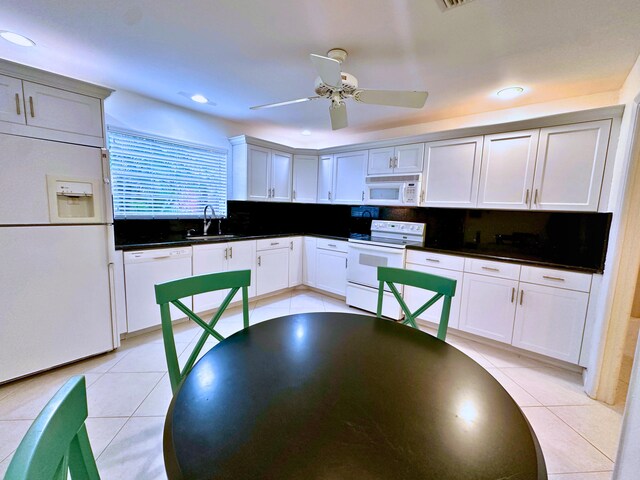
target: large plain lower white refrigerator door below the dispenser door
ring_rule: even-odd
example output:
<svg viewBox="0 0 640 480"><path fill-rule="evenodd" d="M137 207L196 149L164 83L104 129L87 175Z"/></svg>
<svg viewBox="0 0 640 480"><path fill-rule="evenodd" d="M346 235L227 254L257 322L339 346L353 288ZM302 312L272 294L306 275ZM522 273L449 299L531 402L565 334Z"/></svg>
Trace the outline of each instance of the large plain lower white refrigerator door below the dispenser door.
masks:
<svg viewBox="0 0 640 480"><path fill-rule="evenodd" d="M108 228L0 228L0 382L114 348Z"/></svg>

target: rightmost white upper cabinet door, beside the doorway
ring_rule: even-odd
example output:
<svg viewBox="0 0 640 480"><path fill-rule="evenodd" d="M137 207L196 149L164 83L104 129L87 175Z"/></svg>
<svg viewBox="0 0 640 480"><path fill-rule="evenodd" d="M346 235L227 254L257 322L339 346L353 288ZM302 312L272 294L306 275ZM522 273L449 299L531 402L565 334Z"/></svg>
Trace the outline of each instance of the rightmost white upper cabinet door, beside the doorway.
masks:
<svg viewBox="0 0 640 480"><path fill-rule="evenodd" d="M532 209L597 211L611 120L540 130Z"/></svg>

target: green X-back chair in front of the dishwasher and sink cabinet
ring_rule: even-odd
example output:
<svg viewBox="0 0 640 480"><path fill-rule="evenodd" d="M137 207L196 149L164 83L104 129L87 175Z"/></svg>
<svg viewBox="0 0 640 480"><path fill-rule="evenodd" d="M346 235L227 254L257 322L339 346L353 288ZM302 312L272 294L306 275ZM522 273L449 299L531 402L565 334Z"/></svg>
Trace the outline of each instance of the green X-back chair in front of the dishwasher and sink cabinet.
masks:
<svg viewBox="0 0 640 480"><path fill-rule="evenodd" d="M242 289L242 318L244 321L244 328L249 326L249 300L247 287L249 287L250 284L251 270L237 270L232 272L197 275L195 277L182 278L180 280L156 285L156 303L160 305L164 350L167 357L167 369L169 371L171 390L174 394L178 391L180 383L196 363L196 359L198 358L204 343L207 341L207 337L212 336L219 341L224 340L224 337L215 330L215 326L231 303L233 297L240 289ZM213 292L216 290L226 290L229 288L231 290L224 298L222 304L211 320L208 322L204 321L180 301L181 298L190 297L192 295ZM169 310L170 304L175 305L180 311L182 311L182 313L197 323L204 330L182 370L180 370L180 364L178 363L176 344L173 338L173 327L171 323L171 313Z"/></svg>

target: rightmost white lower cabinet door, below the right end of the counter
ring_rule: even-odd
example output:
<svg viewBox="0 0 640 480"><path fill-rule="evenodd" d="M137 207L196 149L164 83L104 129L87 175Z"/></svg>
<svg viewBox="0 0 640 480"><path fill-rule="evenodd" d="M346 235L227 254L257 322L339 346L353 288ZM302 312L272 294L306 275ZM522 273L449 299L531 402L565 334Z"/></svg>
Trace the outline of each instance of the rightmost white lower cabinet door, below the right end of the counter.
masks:
<svg viewBox="0 0 640 480"><path fill-rule="evenodd" d="M513 346L578 363L589 294L520 284Z"/></svg>

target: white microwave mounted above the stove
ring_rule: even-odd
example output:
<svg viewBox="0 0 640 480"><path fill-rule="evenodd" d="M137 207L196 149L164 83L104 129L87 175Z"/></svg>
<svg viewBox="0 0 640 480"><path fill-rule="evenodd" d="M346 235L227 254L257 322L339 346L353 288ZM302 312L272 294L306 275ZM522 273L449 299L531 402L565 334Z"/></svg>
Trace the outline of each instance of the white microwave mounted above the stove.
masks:
<svg viewBox="0 0 640 480"><path fill-rule="evenodd" d="M420 175L367 177L366 203L369 205L417 206Z"/></svg>

